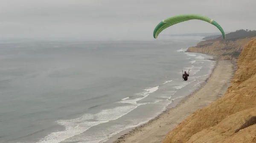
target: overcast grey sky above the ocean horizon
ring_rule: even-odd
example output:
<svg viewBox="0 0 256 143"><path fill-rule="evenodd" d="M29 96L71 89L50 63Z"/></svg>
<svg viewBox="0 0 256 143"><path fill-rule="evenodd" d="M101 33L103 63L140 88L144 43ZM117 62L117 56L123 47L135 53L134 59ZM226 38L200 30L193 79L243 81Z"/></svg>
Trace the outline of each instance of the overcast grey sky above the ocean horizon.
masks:
<svg viewBox="0 0 256 143"><path fill-rule="evenodd" d="M256 0L0 0L0 37L152 39L176 14L202 14L224 31L256 30ZM161 34L219 32L191 20ZM161 34L158 38L161 38Z"/></svg>

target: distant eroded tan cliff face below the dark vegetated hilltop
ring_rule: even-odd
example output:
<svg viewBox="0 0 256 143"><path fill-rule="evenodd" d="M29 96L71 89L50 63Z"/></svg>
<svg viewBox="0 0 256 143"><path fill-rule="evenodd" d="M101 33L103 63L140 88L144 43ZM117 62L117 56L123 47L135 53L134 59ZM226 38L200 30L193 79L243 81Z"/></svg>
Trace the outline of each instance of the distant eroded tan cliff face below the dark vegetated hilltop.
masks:
<svg viewBox="0 0 256 143"><path fill-rule="evenodd" d="M209 53L219 59L236 59L243 47L256 37L227 40L206 40L199 42L195 47L189 47L188 52Z"/></svg>

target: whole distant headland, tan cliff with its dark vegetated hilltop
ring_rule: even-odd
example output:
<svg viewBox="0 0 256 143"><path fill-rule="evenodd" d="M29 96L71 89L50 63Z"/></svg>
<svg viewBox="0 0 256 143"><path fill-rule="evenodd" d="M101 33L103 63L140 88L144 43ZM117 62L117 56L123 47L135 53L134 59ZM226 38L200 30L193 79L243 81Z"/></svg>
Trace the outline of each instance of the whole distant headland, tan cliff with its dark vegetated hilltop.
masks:
<svg viewBox="0 0 256 143"><path fill-rule="evenodd" d="M188 52L208 53L218 56L218 59L232 59L238 58L243 47L252 39L256 38L256 31L238 30L226 35L226 39L219 37L208 39L199 42L194 47L189 47Z"/></svg>

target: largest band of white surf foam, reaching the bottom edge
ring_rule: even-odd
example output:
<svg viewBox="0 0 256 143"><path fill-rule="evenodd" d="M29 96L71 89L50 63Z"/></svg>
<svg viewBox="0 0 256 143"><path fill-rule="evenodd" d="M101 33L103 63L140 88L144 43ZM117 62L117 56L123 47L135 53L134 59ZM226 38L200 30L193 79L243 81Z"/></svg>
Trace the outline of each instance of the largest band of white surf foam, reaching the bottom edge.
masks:
<svg viewBox="0 0 256 143"><path fill-rule="evenodd" d="M60 143L70 137L79 135L90 129L92 126L99 125L101 123L106 123L112 120L116 120L123 115L128 114L132 110L136 109L139 105L115 107L112 109L103 109L101 112L96 114L85 114L80 118L71 120L59 120L57 123L65 127L64 131L52 132L46 137L40 139L37 143ZM93 121L89 121L92 120Z"/></svg>

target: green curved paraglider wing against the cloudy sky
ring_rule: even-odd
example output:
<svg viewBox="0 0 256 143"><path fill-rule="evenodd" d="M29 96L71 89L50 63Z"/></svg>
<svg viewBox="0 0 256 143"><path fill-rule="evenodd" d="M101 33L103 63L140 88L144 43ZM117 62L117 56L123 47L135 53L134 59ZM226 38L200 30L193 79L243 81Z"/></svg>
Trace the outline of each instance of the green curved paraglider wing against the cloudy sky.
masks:
<svg viewBox="0 0 256 143"><path fill-rule="evenodd" d="M180 22L188 21L188 20L203 20L205 22L209 22L212 25L215 25L220 31L223 36L223 39L225 39L225 32L221 28L221 25L219 25L216 21L210 19L209 17L205 17L199 14L182 14L182 15L176 15L173 17L169 17L161 21L156 28L154 29L153 36L155 39L157 39L157 36L162 32L164 29L175 25Z"/></svg>

